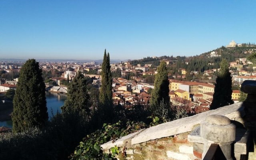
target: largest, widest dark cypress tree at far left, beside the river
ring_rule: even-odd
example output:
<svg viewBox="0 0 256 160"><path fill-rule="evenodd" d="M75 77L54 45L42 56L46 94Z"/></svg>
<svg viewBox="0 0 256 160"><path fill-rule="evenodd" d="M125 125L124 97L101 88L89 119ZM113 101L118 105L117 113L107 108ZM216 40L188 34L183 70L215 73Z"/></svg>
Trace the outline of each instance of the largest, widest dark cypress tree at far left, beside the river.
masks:
<svg viewBox="0 0 256 160"><path fill-rule="evenodd" d="M48 120L45 84L42 70L34 59L29 59L20 70L13 99L13 131L22 132L31 127L42 128Z"/></svg>

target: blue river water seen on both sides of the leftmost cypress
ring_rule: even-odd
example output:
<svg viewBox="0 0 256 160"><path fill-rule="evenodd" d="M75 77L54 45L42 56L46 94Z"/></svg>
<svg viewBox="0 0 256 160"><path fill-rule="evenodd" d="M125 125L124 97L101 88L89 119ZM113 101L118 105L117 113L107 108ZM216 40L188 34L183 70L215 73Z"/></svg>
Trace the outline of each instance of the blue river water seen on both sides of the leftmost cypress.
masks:
<svg viewBox="0 0 256 160"><path fill-rule="evenodd" d="M61 112L60 107L64 105L65 100L67 99L66 94L46 92L46 106L48 108L49 119L52 115L55 115L57 112ZM12 120L6 120L0 122L0 126L6 126L12 128Z"/></svg>

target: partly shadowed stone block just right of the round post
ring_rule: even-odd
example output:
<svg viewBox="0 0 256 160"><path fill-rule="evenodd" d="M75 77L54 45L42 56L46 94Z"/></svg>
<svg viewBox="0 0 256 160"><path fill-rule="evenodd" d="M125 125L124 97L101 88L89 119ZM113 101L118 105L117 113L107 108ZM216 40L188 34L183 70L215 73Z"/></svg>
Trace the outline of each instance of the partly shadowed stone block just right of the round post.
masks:
<svg viewBox="0 0 256 160"><path fill-rule="evenodd" d="M236 128L236 143L234 145L234 152L236 154L246 154L248 149L249 131L243 128Z"/></svg>

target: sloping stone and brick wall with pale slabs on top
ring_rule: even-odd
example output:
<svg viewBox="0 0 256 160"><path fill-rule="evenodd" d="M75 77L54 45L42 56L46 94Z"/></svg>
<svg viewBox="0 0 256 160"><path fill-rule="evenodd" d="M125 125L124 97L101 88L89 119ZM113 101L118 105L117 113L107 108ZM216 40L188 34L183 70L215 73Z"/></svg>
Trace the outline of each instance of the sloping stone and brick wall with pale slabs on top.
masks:
<svg viewBox="0 0 256 160"><path fill-rule="evenodd" d="M124 136L116 142L102 144L104 152L120 147L118 159L123 160L199 160L204 142L200 136L200 123L210 115L223 115L243 123L242 103L224 106L195 116L174 120ZM199 129L198 129L199 128Z"/></svg>

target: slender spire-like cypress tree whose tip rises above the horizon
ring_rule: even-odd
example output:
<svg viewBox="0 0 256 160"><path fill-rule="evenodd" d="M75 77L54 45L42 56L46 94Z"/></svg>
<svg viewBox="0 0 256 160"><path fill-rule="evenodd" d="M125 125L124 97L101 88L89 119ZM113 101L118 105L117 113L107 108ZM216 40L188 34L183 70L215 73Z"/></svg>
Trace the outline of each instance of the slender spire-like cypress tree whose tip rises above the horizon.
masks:
<svg viewBox="0 0 256 160"><path fill-rule="evenodd" d="M102 80L100 87L99 101L100 105L111 106L113 104L112 100L112 75L110 72L110 56L106 54L106 49L104 52L103 62L102 62Z"/></svg>

